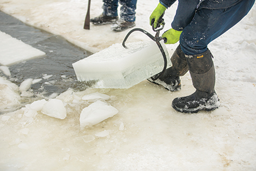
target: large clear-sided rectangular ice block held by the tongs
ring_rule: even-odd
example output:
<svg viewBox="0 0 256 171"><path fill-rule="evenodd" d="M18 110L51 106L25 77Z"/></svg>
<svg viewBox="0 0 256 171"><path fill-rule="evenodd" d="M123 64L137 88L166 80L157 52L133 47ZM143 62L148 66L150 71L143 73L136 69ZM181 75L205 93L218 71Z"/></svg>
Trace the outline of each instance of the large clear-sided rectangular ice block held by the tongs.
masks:
<svg viewBox="0 0 256 171"><path fill-rule="evenodd" d="M172 63L163 41L161 45L168 68ZM162 71L164 60L155 42L133 42L126 46L128 49L117 43L72 64L77 80L92 88L130 88Z"/></svg>

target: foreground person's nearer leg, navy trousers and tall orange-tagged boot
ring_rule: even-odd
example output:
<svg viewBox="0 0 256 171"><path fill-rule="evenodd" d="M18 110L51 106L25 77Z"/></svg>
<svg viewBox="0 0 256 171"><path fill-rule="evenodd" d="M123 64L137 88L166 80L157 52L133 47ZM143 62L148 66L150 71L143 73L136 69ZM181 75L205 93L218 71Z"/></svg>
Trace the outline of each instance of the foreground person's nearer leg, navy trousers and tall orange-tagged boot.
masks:
<svg viewBox="0 0 256 171"><path fill-rule="evenodd" d="M180 45L185 53L196 92L173 100L175 110L196 113L214 110L219 105L215 93L215 69L208 44L239 22L252 8L253 1L241 1L227 9L200 9L182 31Z"/></svg>

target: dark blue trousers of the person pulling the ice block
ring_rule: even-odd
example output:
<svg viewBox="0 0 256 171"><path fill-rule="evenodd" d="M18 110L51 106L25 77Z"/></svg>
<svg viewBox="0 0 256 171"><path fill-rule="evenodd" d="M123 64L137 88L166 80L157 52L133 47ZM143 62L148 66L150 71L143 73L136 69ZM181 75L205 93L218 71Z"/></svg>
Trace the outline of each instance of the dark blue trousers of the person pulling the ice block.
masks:
<svg viewBox="0 0 256 171"><path fill-rule="evenodd" d="M211 41L248 14L254 2L244 0L226 9L199 9L180 35L181 50L187 55L205 52Z"/></svg>

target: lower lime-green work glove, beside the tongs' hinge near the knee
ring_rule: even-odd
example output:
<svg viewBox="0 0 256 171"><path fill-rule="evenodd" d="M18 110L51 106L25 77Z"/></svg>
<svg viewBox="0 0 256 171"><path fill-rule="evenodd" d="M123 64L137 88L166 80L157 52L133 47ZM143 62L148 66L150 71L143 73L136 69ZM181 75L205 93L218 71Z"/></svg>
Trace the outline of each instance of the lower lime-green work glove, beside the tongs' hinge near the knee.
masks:
<svg viewBox="0 0 256 171"><path fill-rule="evenodd" d="M180 40L180 34L182 31L176 31L174 29L169 29L162 34L165 44L174 44Z"/></svg>

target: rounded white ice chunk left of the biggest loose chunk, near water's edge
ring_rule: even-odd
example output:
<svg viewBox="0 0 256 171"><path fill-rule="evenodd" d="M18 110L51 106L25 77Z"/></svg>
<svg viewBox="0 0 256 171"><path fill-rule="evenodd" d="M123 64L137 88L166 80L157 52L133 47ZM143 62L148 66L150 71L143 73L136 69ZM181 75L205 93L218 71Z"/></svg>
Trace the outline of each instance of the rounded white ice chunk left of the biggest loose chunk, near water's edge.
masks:
<svg viewBox="0 0 256 171"><path fill-rule="evenodd" d="M62 100L59 99L50 99L47 103L42 106L42 113L45 115L65 119L66 118L66 109Z"/></svg>

